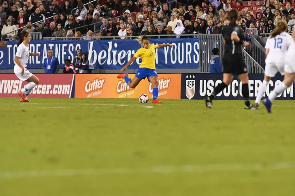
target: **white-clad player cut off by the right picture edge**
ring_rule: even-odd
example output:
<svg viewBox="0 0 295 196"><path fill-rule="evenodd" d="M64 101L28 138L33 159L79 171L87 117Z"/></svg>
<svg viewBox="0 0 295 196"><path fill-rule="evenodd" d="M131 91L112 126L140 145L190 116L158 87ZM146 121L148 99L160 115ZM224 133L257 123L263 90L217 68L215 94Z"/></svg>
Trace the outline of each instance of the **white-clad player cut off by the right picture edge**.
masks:
<svg viewBox="0 0 295 196"><path fill-rule="evenodd" d="M293 40L288 48L285 58L284 81L273 89L268 98L262 100L262 103L266 106L268 113L271 113L271 105L277 98L277 95L283 93L284 90L290 87L295 79L295 30L292 33L292 38Z"/></svg>

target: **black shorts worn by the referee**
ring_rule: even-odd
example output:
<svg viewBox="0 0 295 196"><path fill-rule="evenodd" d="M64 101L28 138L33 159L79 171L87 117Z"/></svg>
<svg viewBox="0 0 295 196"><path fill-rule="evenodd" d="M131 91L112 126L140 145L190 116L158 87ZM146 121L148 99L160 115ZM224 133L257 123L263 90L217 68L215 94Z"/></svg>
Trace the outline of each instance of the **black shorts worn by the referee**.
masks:
<svg viewBox="0 0 295 196"><path fill-rule="evenodd" d="M222 65L223 73L240 75L248 72L243 54L224 53L222 58Z"/></svg>

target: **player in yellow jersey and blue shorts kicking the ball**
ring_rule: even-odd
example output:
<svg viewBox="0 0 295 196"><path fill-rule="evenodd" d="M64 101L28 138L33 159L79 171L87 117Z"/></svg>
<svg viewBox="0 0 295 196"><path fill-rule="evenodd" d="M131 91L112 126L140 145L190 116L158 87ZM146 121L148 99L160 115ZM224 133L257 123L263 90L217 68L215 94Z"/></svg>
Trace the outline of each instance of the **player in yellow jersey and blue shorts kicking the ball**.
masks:
<svg viewBox="0 0 295 196"><path fill-rule="evenodd" d="M128 63L121 69L121 72L124 72L127 67L133 63L138 57L141 57L142 63L140 64L138 71L136 72L135 77L131 80L128 77L128 73L119 74L117 78L125 79L126 83L130 88L135 88L142 79L148 78L148 81L152 84L153 90L153 100L152 103L162 103L159 101L159 78L156 72L156 64L155 64L155 49L163 48L163 47L172 47L172 44L149 44L148 36L144 35L139 38L138 42L142 45L140 49L134 54L134 56L128 61Z"/></svg>

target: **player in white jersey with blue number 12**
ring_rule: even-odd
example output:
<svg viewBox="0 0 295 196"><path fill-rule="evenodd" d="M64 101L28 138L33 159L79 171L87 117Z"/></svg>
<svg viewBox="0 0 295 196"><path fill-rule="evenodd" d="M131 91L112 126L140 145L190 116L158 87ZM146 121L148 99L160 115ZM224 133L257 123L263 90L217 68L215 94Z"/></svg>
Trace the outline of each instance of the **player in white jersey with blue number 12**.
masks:
<svg viewBox="0 0 295 196"><path fill-rule="evenodd" d="M270 33L266 41L266 67L264 80L258 89L258 94L254 105L251 109L257 110L263 94L266 92L266 87L272 77L276 73L284 75L285 53L292 42L292 36L286 33L286 21L279 21L276 29Z"/></svg>

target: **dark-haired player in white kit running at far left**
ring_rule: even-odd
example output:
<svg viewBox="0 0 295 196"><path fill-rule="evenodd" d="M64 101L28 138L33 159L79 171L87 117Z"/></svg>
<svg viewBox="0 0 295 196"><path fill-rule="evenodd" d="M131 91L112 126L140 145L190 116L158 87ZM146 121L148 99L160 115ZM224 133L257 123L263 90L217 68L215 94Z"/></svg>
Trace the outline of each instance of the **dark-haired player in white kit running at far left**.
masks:
<svg viewBox="0 0 295 196"><path fill-rule="evenodd" d="M28 84L18 92L21 97L21 102L29 102L27 99L32 89L39 84L39 79L27 70L29 56L40 56L40 53L29 52L29 42L31 40L30 34L26 31L21 32L17 43L17 50L14 61L14 73L22 81L27 81Z"/></svg>

